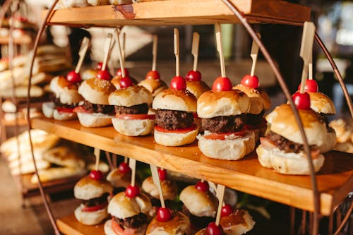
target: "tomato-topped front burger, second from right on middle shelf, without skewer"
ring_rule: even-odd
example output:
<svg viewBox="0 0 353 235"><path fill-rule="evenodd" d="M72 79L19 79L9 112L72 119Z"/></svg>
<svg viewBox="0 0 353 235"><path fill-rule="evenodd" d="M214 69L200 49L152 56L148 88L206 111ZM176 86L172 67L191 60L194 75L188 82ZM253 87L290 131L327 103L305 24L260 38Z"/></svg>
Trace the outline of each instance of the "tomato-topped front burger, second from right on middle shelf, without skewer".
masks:
<svg viewBox="0 0 353 235"><path fill-rule="evenodd" d="M229 78L217 78L212 90L198 98L198 117L203 135L198 135L198 148L207 157L241 159L255 147L255 134L244 130L249 97L232 90Z"/></svg>

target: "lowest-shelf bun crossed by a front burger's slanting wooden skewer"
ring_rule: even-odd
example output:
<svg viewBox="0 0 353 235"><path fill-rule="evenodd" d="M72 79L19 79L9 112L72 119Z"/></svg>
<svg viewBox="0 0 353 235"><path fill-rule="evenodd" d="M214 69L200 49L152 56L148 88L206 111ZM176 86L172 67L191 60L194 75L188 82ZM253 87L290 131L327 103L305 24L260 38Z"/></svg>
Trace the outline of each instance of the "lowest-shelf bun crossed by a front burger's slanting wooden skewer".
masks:
<svg viewBox="0 0 353 235"><path fill-rule="evenodd" d="M162 186L164 200L174 200L177 197L177 184L174 181L169 181L168 179L161 180L160 185ZM147 177L143 181L142 189L153 198L160 199L160 193L155 183L153 183L152 176Z"/></svg>

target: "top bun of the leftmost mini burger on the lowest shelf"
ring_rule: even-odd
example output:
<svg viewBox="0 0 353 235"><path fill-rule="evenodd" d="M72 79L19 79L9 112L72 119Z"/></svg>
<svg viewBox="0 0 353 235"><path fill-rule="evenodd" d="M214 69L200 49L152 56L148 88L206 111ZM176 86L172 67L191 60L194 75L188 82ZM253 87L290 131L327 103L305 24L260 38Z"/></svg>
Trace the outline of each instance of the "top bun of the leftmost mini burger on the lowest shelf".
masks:
<svg viewBox="0 0 353 235"><path fill-rule="evenodd" d="M99 198L104 193L112 192L113 186L108 181L92 179L89 175L80 179L73 188L73 195L81 200Z"/></svg>

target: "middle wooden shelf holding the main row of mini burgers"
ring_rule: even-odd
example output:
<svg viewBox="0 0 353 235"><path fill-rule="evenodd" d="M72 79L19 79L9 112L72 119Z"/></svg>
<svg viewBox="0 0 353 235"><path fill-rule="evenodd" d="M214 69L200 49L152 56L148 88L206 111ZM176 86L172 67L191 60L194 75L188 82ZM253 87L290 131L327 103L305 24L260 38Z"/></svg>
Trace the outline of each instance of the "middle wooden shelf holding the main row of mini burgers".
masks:
<svg viewBox="0 0 353 235"><path fill-rule="evenodd" d="M313 211L310 177L285 176L265 169L258 162L256 152L239 161L225 161L205 157L198 150L196 142L183 147L164 147L155 143L152 135L128 137L117 133L112 126L85 128L78 121L42 118L32 119L32 127L83 145ZM352 154L335 151L325 154L325 164L316 177L318 191L321 193L322 215L330 215L335 205L342 203L347 193L353 191L352 166Z"/></svg>

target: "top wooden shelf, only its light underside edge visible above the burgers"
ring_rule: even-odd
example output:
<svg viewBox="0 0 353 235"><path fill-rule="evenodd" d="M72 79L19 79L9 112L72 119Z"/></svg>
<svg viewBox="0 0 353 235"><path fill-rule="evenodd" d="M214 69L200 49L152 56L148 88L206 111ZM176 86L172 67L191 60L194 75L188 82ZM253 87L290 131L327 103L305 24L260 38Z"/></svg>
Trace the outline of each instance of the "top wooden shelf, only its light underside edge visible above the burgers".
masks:
<svg viewBox="0 0 353 235"><path fill-rule="evenodd" d="M252 23L297 24L310 20L310 8L280 0L232 0ZM43 12L43 17L47 11ZM165 0L129 5L87 6L54 11L49 24L74 27L118 25L207 25L239 23L220 0Z"/></svg>

